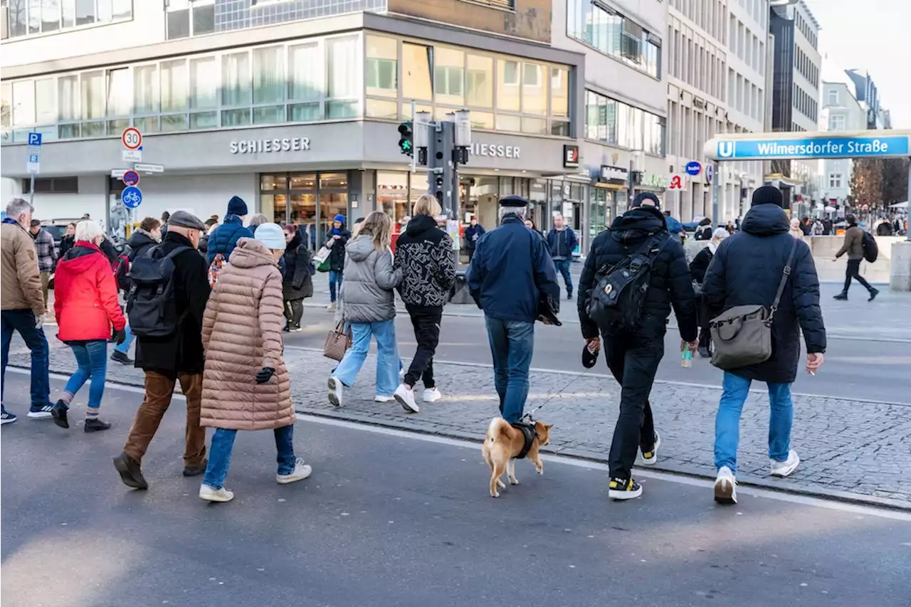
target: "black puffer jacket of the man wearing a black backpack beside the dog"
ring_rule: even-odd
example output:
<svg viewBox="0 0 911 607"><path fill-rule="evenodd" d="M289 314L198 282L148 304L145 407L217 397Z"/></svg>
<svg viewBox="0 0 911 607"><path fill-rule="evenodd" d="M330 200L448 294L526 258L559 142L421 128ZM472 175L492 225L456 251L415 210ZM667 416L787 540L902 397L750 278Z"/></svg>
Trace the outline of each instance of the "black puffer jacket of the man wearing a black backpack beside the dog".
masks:
<svg viewBox="0 0 911 607"><path fill-rule="evenodd" d="M591 251L578 281L578 319L582 324L583 337L589 339L599 335L598 325L592 322L587 312L589 291L595 286L595 274L605 264L614 265L627 255L639 251L653 233L667 229L661 211L653 207L640 207L618 217L608 231L602 231L595 242L591 243ZM671 305L677 314L681 337L688 342L695 340L698 324L690 268L681 243L674 238L665 242L655 258L642 314L666 323Z"/></svg>

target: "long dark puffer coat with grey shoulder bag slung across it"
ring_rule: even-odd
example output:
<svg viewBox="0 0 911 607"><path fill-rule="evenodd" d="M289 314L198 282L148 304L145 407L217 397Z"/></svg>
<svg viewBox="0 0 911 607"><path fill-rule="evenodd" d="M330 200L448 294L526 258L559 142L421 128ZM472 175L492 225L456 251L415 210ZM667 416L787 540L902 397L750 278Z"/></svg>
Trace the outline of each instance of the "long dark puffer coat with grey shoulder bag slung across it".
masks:
<svg viewBox="0 0 911 607"><path fill-rule="evenodd" d="M711 317L735 305L772 307L793 246L789 222L781 207L759 204L743 218L741 231L726 238L705 273L702 295ZM807 352L825 352L825 326L819 307L819 279L806 242L797 242L791 278L772 325L772 357L734 375L773 384L791 384L800 364L800 334Z"/></svg>

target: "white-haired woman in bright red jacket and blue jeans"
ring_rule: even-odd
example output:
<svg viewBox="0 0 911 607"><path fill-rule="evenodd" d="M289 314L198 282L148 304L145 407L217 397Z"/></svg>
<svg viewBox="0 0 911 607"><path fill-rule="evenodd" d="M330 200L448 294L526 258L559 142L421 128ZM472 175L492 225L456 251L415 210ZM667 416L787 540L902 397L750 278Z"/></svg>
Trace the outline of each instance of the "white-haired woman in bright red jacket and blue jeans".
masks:
<svg viewBox="0 0 911 607"><path fill-rule="evenodd" d="M60 329L57 338L73 348L77 370L67 381L63 396L56 402L51 415L57 426L69 427L69 404L91 377L86 432L111 427L98 419L101 397L105 393L107 340L114 333L117 343L122 344L127 336L124 331L127 320L120 310L117 281L107 256L98 248L103 240L104 232L95 221L79 221L76 243L57 262L54 279L54 311Z"/></svg>

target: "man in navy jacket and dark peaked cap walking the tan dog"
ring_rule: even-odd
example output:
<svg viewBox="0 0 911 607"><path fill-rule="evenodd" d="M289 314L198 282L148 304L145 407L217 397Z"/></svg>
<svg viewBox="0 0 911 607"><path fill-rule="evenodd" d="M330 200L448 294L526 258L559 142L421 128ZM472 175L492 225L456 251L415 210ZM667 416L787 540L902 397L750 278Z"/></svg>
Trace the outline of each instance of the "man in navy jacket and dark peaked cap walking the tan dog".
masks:
<svg viewBox="0 0 911 607"><path fill-rule="evenodd" d="M521 196L500 200L500 226L478 240L466 276L471 296L484 310L500 413L510 424L517 424L525 409L541 294L555 303L560 296L544 242L525 227L527 211Z"/></svg>

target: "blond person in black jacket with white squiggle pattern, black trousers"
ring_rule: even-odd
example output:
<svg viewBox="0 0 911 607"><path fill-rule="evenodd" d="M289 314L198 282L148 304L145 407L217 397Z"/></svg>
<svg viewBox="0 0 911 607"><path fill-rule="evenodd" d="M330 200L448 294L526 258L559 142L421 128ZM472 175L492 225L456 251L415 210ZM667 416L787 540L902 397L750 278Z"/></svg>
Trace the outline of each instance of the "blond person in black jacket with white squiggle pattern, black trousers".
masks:
<svg viewBox="0 0 911 607"><path fill-rule="evenodd" d="M395 400L405 411L417 413L415 384L424 382L424 402L439 400L434 382L434 354L440 341L443 305L455 282L453 239L436 227L435 216L440 203L430 194L421 194L415 202L415 216L395 243L395 268L402 268L398 290L415 327L417 350L395 390Z"/></svg>

